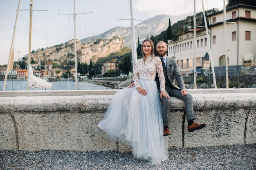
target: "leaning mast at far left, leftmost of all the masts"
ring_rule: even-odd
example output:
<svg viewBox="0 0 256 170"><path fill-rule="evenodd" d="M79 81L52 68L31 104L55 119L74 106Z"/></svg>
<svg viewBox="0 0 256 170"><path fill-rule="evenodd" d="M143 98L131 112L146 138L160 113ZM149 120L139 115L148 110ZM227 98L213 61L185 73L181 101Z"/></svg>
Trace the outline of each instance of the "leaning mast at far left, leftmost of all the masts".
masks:
<svg viewBox="0 0 256 170"><path fill-rule="evenodd" d="M10 49L8 64L7 64L7 68L6 68L6 73L5 73L5 76L4 76L3 91L5 90L5 85L6 85L9 69L10 69L10 67L13 67L13 55L14 55L13 54L13 52L14 52L13 42L14 42L14 37L15 37L15 32L16 32L16 25L17 25L17 20L18 20L19 9L20 9L20 0L18 2L18 9L17 9L17 13L16 13L16 19L15 19L15 24L14 24L13 34L12 34L12 40L11 40L11 49Z"/></svg>

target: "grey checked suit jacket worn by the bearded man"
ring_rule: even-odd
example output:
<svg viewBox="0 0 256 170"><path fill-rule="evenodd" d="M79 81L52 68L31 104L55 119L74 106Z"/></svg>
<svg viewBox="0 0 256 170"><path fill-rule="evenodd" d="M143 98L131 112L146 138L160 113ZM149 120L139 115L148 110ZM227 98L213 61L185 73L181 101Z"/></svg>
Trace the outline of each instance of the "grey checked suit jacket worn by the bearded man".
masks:
<svg viewBox="0 0 256 170"><path fill-rule="evenodd" d="M167 56L166 61L167 76L173 87L177 89L186 89L182 74L180 72L180 68L175 59ZM174 78L176 79L180 87L175 85ZM157 88L160 88L158 75L155 77L155 81L157 82Z"/></svg>

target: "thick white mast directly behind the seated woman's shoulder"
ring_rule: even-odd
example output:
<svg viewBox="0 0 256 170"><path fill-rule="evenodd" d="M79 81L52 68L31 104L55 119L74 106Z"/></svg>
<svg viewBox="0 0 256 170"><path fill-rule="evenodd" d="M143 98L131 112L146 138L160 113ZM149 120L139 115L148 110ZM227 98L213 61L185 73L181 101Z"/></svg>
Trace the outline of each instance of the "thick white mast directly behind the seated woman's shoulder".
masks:
<svg viewBox="0 0 256 170"><path fill-rule="evenodd" d="M137 53L136 53L136 42L135 42L135 28L133 24L132 0L130 0L130 15L131 15L131 32L132 32L132 72L134 72L135 64L137 62Z"/></svg>

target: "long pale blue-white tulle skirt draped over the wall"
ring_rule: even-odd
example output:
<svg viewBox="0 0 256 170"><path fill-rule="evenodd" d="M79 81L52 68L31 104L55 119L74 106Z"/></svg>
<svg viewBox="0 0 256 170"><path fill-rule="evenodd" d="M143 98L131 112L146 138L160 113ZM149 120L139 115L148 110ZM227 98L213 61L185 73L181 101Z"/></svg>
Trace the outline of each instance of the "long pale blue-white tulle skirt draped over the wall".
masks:
<svg viewBox="0 0 256 170"><path fill-rule="evenodd" d="M139 94L135 87L118 91L98 126L114 141L131 145L135 158L161 163L168 159L168 147L157 84L144 79L139 84L147 95Z"/></svg>

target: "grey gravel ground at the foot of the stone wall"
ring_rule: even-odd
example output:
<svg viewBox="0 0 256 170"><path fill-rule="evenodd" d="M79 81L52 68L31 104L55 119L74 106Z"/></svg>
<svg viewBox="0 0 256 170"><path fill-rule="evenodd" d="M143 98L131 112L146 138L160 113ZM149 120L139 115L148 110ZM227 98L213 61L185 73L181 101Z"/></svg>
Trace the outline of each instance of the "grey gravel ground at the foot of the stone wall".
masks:
<svg viewBox="0 0 256 170"><path fill-rule="evenodd" d="M256 143L169 148L161 164L114 151L0 151L0 170L256 170Z"/></svg>

